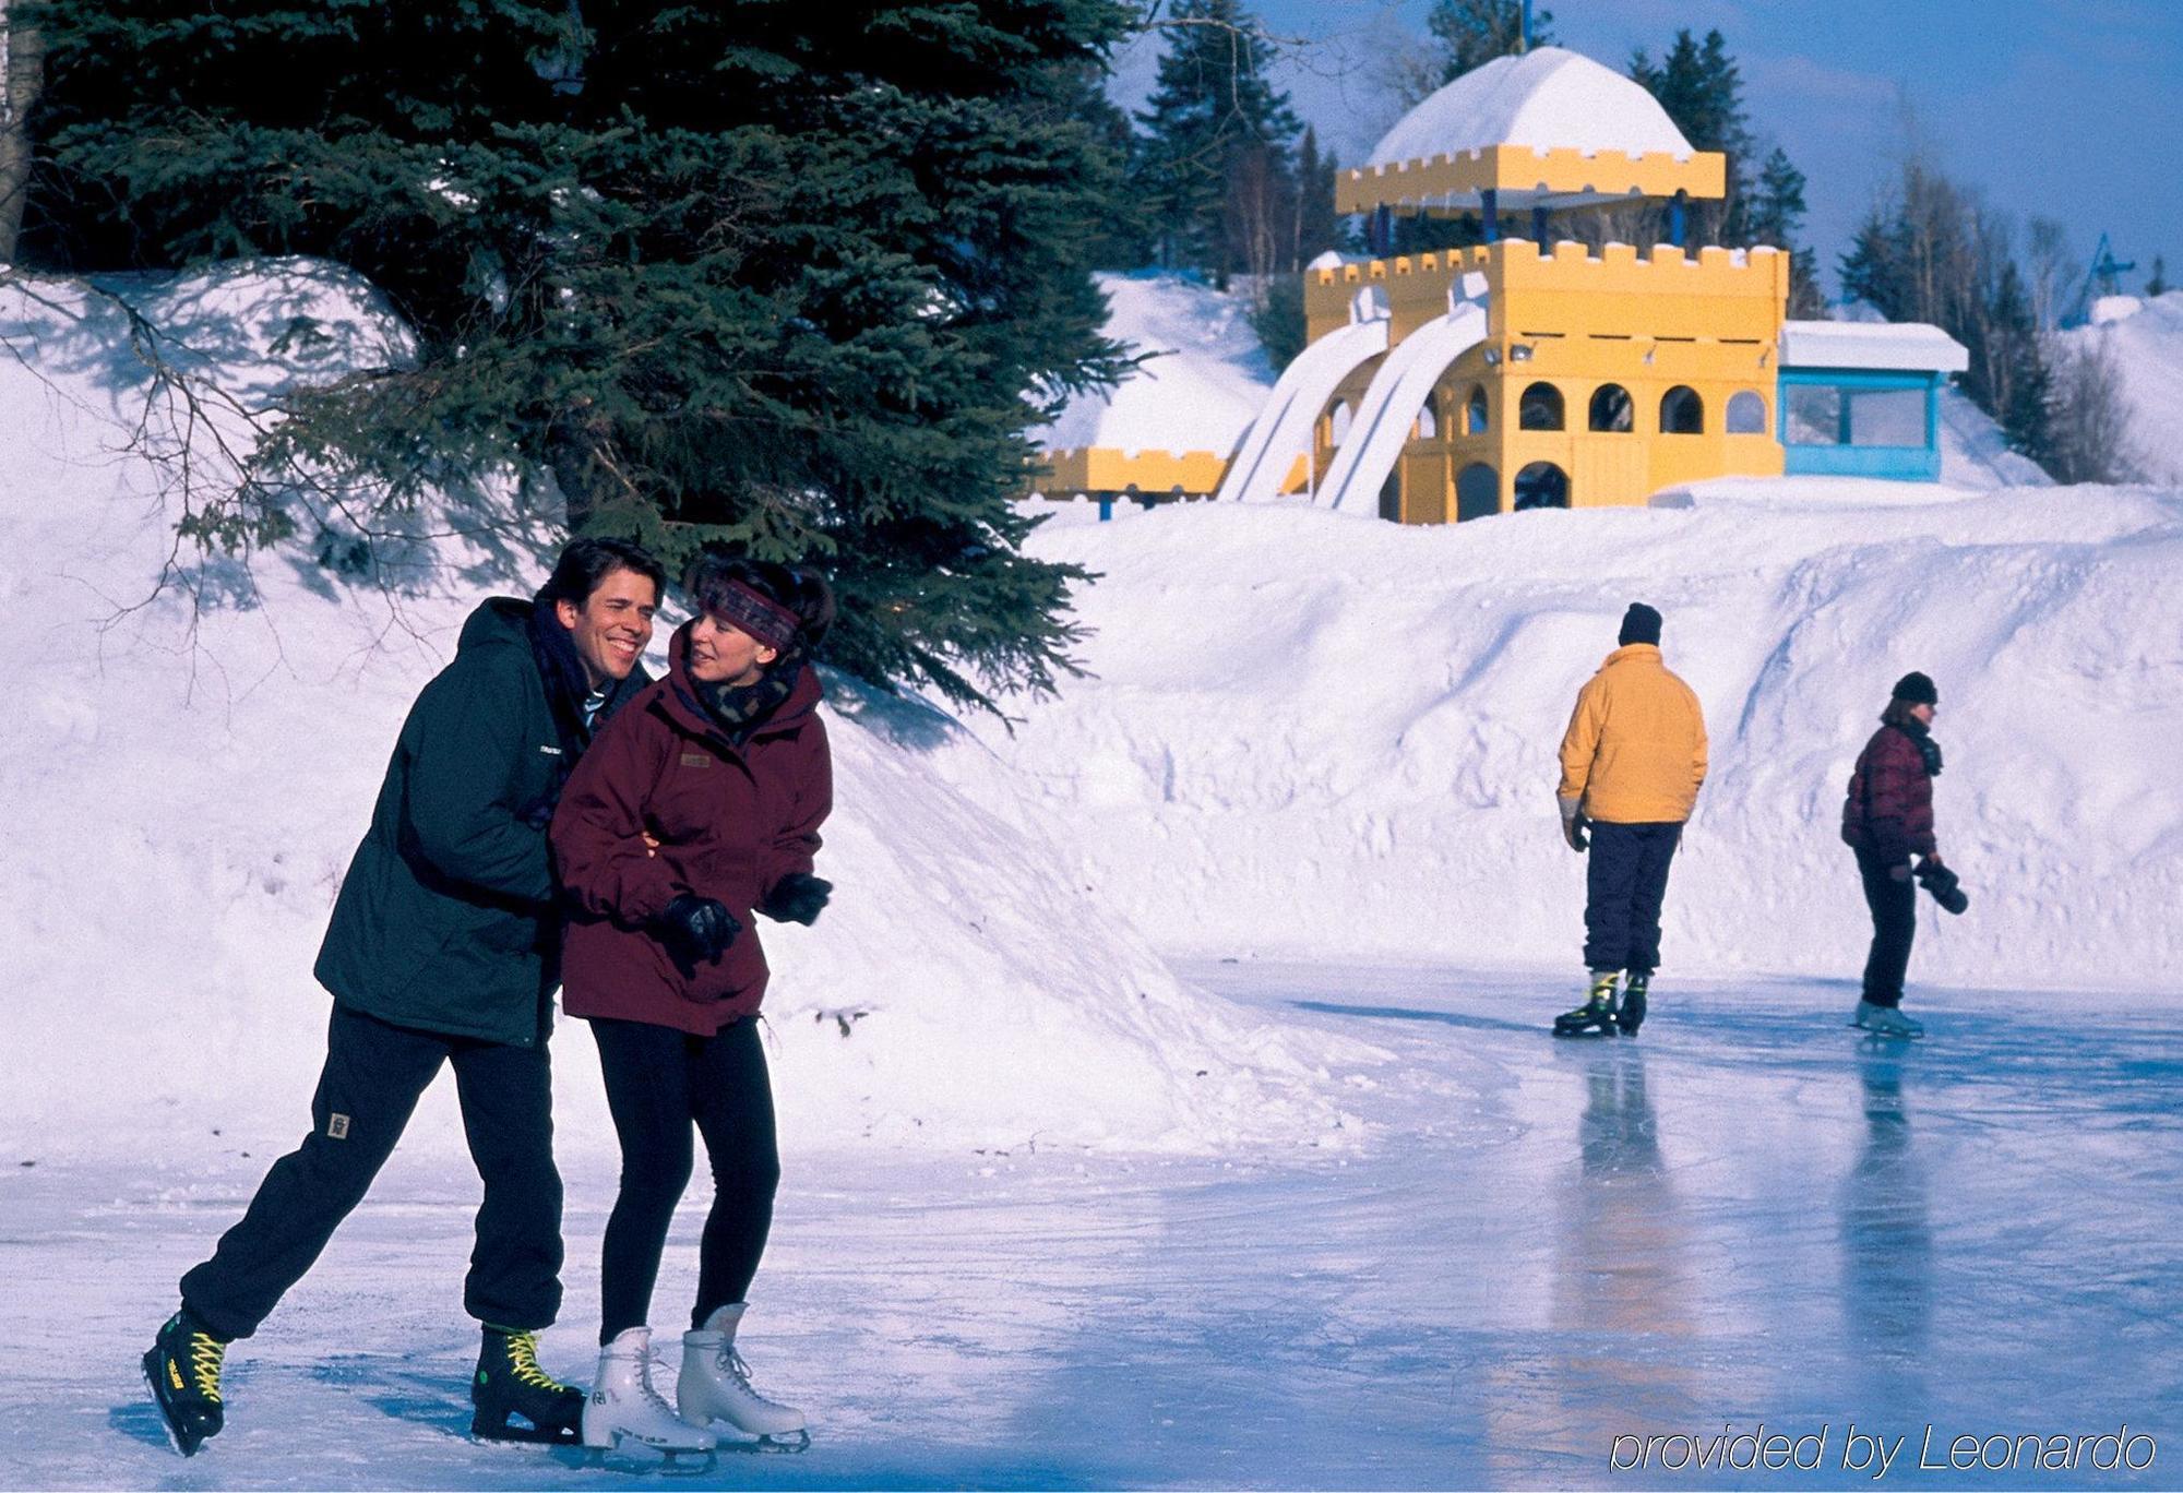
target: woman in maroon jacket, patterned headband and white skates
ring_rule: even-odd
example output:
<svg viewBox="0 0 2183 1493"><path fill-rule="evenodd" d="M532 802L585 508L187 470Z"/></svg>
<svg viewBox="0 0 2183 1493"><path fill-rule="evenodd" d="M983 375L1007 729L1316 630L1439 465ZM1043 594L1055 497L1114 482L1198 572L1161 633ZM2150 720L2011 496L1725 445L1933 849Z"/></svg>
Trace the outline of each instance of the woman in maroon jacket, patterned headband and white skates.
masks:
<svg viewBox="0 0 2183 1493"><path fill-rule="evenodd" d="M592 1022L622 1144L583 1438L668 1454L716 1438L808 1443L803 1414L751 1390L736 1353L779 1183L753 1019L766 956L751 915L819 917L832 886L812 875L812 856L834 797L808 661L834 620L825 581L705 557L685 589L699 611L668 644L666 679L600 733L552 821L574 901L563 1008ZM670 1410L651 1382L646 1321L690 1183L692 1122L714 1201Z"/></svg>

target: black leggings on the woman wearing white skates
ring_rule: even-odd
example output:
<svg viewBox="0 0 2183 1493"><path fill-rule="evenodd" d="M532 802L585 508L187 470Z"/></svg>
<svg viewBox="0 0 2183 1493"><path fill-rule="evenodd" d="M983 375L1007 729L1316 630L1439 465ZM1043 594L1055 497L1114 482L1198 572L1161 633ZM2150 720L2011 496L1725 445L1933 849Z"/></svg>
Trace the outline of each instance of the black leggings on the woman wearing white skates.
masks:
<svg viewBox="0 0 2183 1493"><path fill-rule="evenodd" d="M622 1142L622 1192L607 1218L600 1266L600 1345L651 1321L653 1281L675 1205L690 1185L690 1122L712 1163L712 1211L699 1244L696 1307L703 1327L714 1310L742 1301L773 1229L782 1157L773 1139L773 1085L758 1019L714 1037L692 1037L644 1022L592 1022L607 1107Z"/></svg>

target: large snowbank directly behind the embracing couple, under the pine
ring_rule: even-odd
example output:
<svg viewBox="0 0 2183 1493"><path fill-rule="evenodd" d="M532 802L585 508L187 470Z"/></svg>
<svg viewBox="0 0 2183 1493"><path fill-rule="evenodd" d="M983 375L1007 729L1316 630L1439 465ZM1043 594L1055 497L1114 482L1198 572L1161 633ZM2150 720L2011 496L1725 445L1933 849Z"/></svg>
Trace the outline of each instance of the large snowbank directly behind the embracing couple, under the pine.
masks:
<svg viewBox="0 0 2183 1493"><path fill-rule="evenodd" d="M140 347L236 404L177 426L109 292L157 330ZM0 596L17 622L0 644L0 1135L286 1144L323 1059L312 958L397 727L478 600L537 585L552 533L506 482L415 515L375 565L354 535L317 539L332 519L308 506L301 546L247 565L177 544L183 437L218 471L220 441L247 447L244 410L406 356L369 286L325 266L13 279L0 338ZM832 688L838 812L819 869L838 893L814 930L764 932L786 1146L1338 1139L1316 1089L1343 1054L1179 984L954 720ZM563 1148L611 1150L581 1024L557 1065ZM461 1144L445 1089L417 1146Z"/></svg>

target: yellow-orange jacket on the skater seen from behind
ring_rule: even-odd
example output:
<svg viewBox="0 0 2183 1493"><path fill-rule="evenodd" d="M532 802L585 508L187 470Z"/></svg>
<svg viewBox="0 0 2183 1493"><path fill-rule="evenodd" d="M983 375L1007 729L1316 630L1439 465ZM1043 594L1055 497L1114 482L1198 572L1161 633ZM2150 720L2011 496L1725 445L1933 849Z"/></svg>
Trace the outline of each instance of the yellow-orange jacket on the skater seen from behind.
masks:
<svg viewBox="0 0 2183 1493"><path fill-rule="evenodd" d="M1683 823L1705 781L1705 714L1653 644L1607 655L1561 738L1561 810L1611 825Z"/></svg>

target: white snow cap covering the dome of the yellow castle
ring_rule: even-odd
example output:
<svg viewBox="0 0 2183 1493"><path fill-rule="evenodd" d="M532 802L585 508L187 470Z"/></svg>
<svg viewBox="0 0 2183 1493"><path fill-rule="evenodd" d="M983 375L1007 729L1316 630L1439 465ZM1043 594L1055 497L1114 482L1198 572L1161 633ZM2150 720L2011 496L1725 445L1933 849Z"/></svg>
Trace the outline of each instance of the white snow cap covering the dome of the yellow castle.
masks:
<svg viewBox="0 0 2183 1493"><path fill-rule="evenodd" d="M1535 46L1522 57L1495 57L1441 87L1401 116L1364 164L1401 166L1498 144L1692 155L1683 131L1639 83L1583 52Z"/></svg>

